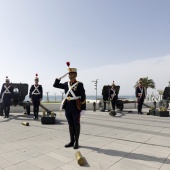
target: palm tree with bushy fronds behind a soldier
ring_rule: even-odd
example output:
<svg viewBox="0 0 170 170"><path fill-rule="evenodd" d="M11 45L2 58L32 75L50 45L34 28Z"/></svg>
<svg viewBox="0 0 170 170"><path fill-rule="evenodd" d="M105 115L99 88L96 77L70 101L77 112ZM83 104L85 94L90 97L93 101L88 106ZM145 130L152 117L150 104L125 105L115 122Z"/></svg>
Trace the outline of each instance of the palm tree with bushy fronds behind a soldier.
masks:
<svg viewBox="0 0 170 170"><path fill-rule="evenodd" d="M155 82L152 79L148 79L148 77L143 77L143 78L140 78L139 81L141 82L141 85L144 87L146 95L147 95L148 88L155 89ZM135 87L136 86L137 86L137 83Z"/></svg>

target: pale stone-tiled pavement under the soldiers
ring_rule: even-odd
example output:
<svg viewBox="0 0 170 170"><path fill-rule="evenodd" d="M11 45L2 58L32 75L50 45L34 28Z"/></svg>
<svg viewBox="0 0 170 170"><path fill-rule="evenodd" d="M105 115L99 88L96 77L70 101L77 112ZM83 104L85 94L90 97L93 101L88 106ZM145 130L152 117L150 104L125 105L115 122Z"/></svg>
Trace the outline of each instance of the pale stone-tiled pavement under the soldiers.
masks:
<svg viewBox="0 0 170 170"><path fill-rule="evenodd" d="M56 112L55 125L42 125L23 113L0 117L0 170L170 170L170 117L132 110L116 117L86 111L78 149L86 158L82 167L77 150L64 148L69 141L64 114Z"/></svg>

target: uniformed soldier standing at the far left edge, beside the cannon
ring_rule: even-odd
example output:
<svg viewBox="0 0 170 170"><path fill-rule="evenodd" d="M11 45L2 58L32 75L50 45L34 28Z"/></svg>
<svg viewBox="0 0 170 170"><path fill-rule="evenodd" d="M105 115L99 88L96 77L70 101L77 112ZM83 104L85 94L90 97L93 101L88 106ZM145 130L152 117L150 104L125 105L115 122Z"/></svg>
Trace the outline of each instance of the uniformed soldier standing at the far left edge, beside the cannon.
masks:
<svg viewBox="0 0 170 170"><path fill-rule="evenodd" d="M13 87L10 85L8 76L6 77L5 83L2 85L0 98L2 99L3 109L5 112L4 118L9 118L10 104L13 98Z"/></svg>

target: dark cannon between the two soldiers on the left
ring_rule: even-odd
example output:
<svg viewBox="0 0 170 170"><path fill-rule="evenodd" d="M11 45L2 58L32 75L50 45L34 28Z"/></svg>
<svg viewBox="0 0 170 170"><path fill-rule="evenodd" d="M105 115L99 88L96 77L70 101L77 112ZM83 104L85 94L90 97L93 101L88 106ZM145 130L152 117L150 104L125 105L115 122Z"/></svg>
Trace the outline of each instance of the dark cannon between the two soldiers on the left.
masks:
<svg viewBox="0 0 170 170"><path fill-rule="evenodd" d="M32 103L30 101L24 101L25 97L28 94L28 84L26 83L11 83L10 86L13 86L13 98L11 101L11 106L22 106L26 114L30 115L30 106ZM48 114L51 114L51 111L48 110L45 106L40 104ZM0 102L0 115L3 115L3 103Z"/></svg>

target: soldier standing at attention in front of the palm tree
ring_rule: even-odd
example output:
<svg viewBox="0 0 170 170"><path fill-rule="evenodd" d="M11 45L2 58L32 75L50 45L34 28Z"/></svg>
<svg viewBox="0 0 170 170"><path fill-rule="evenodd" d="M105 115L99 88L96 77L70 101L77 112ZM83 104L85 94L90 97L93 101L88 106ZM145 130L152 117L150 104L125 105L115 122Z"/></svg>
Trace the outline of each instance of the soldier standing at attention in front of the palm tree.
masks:
<svg viewBox="0 0 170 170"><path fill-rule="evenodd" d="M138 114L142 114L142 106L145 99L145 90L141 84L141 81L138 81L138 86L136 87L135 95L138 102Z"/></svg>

